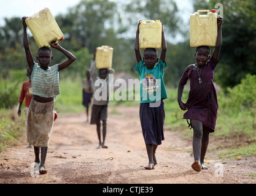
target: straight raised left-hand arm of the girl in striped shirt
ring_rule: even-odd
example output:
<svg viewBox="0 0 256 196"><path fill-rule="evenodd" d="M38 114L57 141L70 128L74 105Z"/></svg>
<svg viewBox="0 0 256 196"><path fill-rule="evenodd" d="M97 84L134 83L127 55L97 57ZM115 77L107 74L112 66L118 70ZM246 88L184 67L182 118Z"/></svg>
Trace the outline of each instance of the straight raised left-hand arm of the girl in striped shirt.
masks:
<svg viewBox="0 0 256 196"><path fill-rule="evenodd" d="M25 53L26 53L26 61L28 61L28 66L29 66L29 68L30 68L30 70L32 72L35 62L34 62L31 50L29 48L28 35L26 33L27 25L25 23L26 18L28 18L28 17L22 17L22 23L23 23L23 46L24 46Z"/></svg>

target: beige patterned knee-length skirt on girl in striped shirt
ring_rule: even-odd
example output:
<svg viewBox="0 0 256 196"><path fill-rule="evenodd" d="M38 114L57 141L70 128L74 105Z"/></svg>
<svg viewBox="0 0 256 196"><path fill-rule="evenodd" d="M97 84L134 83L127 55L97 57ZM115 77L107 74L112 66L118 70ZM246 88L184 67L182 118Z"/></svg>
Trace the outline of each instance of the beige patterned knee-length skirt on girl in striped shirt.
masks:
<svg viewBox="0 0 256 196"><path fill-rule="evenodd" d="M36 147L47 147L52 135L54 100L41 103L31 100L28 111L27 141Z"/></svg>

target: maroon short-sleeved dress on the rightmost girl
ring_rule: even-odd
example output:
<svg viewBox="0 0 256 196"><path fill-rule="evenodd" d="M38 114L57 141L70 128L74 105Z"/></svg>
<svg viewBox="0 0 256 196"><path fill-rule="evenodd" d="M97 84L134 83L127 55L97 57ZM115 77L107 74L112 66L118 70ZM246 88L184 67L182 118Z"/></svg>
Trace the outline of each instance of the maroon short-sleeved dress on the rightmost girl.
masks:
<svg viewBox="0 0 256 196"><path fill-rule="evenodd" d="M210 59L204 67L201 68L201 81L199 83L198 72L196 70L185 70L180 78L180 83L185 85L190 78L190 92L186 102L187 112L184 119L196 119L201 121L204 126L209 127L211 132L215 130L217 120L217 111L219 108L217 94L213 83L214 69L219 61Z"/></svg>

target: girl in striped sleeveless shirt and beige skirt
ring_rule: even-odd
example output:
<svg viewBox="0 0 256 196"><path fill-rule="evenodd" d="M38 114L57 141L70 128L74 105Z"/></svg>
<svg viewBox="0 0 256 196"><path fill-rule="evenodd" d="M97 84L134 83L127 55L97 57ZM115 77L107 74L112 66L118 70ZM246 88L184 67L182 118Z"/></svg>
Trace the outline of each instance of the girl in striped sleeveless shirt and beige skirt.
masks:
<svg viewBox="0 0 256 196"><path fill-rule="evenodd" d="M28 111L28 143L34 146L35 164L41 174L47 173L45 159L47 155L48 142L52 134L54 121L54 102L60 94L59 71L68 67L76 60L68 50L65 50L55 41L50 43L52 48L61 51L68 59L60 64L49 67L53 59L52 51L48 47L39 48L36 59L39 65L34 62L29 48L28 36L26 33L27 17L23 17L23 45L25 48L28 66L32 71L31 85L33 87L33 99ZM41 160L39 153L41 149Z"/></svg>

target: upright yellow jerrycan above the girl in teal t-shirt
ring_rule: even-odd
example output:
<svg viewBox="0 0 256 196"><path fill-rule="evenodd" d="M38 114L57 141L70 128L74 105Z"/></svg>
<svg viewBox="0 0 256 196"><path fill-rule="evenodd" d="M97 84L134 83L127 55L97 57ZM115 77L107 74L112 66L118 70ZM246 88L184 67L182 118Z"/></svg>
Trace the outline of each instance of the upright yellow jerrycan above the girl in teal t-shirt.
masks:
<svg viewBox="0 0 256 196"><path fill-rule="evenodd" d="M160 20L142 20L139 24L139 48L160 49L162 43L162 24Z"/></svg>

